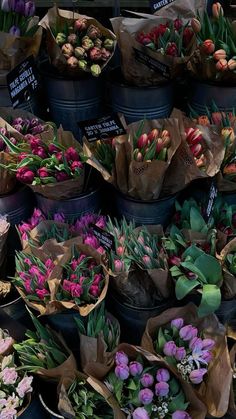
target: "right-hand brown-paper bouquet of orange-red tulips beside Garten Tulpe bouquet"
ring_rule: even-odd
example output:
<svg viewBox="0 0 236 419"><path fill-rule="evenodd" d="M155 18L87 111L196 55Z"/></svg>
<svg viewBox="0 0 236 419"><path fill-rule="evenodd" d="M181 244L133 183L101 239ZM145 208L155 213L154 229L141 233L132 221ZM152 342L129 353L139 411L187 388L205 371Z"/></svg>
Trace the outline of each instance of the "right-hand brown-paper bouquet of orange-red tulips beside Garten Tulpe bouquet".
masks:
<svg viewBox="0 0 236 419"><path fill-rule="evenodd" d="M217 128L196 125L178 109L171 116L179 120L182 141L164 179L165 194L178 192L195 179L215 176L225 153Z"/></svg>

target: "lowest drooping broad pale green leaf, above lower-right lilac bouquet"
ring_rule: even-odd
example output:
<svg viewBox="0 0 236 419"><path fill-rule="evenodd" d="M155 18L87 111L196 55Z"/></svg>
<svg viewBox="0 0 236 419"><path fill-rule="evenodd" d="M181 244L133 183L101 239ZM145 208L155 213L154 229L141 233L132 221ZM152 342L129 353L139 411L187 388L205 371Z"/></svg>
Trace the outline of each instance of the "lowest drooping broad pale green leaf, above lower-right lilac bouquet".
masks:
<svg viewBox="0 0 236 419"><path fill-rule="evenodd" d="M198 307L199 317L214 313L219 308L220 303L220 288L212 284L203 285L201 303Z"/></svg>

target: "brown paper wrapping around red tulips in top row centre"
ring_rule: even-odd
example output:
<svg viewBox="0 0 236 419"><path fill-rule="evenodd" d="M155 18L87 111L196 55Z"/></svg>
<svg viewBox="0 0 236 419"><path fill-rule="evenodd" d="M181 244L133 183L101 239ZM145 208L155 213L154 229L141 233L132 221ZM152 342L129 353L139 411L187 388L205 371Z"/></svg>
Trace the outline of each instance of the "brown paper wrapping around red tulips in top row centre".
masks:
<svg viewBox="0 0 236 419"><path fill-rule="evenodd" d="M149 32L155 26L166 23L166 19L149 16L145 19L116 17L110 20L121 51L121 69L126 81L136 86L157 86L181 74L192 54L192 44L188 56L180 58L153 51L136 40L138 33ZM154 65L155 70L150 68L150 64L137 59L140 53L152 61L151 66Z"/></svg>

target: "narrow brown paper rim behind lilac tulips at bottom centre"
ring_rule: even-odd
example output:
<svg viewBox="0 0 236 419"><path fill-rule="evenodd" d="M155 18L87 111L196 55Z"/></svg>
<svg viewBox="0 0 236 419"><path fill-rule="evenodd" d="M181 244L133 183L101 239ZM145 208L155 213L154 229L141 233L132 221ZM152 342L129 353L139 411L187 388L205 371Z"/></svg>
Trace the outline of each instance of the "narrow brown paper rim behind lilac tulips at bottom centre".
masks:
<svg viewBox="0 0 236 419"><path fill-rule="evenodd" d="M191 415L192 419L205 419L205 416L206 416L205 405L202 403L202 401L200 399L198 399L197 395L195 394L195 392L193 391L191 386L188 383L184 382L181 378L177 377L176 373L174 371L172 371L172 369L168 365L166 365L165 362L163 362L163 359L161 359L157 355L154 355L154 354L146 351L145 349L143 349L141 347L135 347L135 346L132 346L132 345L128 345L126 343L122 343L116 348L116 350L113 353L113 359L114 359L114 355L117 351L124 351L128 355L128 357L131 358L131 359L136 359L137 356L141 355L150 364L156 365L157 368L164 367L164 368L169 369L171 371L171 373L181 383L181 386L182 386L183 391L185 393L186 399L190 403L188 411L189 411L189 414ZM92 378L95 377L98 380L104 380L106 375L111 371L113 366L114 366L114 361L113 361L113 365L111 365L110 367L104 367L104 366L100 365L99 363L94 364L93 368L91 368L89 370L89 375Z"/></svg>

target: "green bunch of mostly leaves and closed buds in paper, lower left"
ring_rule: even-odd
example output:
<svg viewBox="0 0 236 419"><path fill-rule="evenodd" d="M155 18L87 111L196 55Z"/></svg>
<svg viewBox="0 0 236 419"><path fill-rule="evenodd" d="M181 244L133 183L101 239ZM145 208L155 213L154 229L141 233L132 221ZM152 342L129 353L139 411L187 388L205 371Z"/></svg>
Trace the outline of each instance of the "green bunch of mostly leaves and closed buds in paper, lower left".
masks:
<svg viewBox="0 0 236 419"><path fill-rule="evenodd" d="M62 337L43 326L30 311L29 314L35 331L27 330L25 339L13 345L21 371L57 382L64 376L74 377L76 361Z"/></svg>

